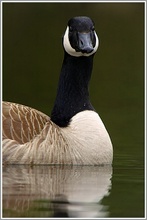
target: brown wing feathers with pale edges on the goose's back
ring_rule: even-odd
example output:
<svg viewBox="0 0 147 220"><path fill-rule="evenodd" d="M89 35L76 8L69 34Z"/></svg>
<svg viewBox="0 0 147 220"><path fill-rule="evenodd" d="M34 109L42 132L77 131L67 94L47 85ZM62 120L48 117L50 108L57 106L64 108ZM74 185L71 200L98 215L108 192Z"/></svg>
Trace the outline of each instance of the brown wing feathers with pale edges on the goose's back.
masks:
<svg viewBox="0 0 147 220"><path fill-rule="evenodd" d="M3 102L3 139L26 143L39 134L48 121L50 118L36 109Z"/></svg>

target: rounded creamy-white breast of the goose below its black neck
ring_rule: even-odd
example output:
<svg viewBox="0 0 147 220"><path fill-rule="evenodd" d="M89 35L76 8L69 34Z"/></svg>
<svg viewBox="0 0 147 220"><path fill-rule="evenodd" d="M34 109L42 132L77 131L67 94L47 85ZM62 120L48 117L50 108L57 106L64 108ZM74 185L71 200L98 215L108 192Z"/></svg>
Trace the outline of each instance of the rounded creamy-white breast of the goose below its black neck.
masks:
<svg viewBox="0 0 147 220"><path fill-rule="evenodd" d="M112 162L112 143L109 134L94 111L76 114L66 128L62 129L69 149L74 150L74 160L84 164L105 164Z"/></svg>

